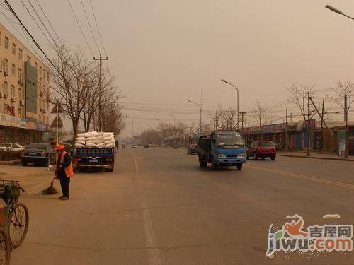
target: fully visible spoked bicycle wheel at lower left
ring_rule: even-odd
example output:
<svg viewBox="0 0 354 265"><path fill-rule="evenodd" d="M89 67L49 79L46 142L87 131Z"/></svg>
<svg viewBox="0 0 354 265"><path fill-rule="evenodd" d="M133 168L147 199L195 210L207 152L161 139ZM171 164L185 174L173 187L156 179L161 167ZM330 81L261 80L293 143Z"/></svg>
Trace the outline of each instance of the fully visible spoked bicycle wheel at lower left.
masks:
<svg viewBox="0 0 354 265"><path fill-rule="evenodd" d="M25 240L28 221L27 206L21 202L15 204L8 215L8 239L13 249L19 247Z"/></svg>

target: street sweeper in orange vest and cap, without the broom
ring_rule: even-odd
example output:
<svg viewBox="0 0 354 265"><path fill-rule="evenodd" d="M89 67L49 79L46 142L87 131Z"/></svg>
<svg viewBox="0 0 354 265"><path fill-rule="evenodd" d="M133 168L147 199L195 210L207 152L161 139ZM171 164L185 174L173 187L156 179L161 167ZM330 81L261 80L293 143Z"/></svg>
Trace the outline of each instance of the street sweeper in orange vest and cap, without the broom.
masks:
<svg viewBox="0 0 354 265"><path fill-rule="evenodd" d="M64 151L64 146L57 145L54 149L57 156L57 169L55 170L55 179L60 180L63 196L59 197L62 201L69 199L70 177L74 176L72 168L72 156Z"/></svg>

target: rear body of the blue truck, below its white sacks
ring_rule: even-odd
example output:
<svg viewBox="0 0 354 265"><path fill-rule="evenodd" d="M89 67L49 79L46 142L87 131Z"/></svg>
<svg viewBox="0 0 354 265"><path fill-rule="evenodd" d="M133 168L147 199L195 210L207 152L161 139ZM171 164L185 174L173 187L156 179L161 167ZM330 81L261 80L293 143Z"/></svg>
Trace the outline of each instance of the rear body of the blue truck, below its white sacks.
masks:
<svg viewBox="0 0 354 265"><path fill-rule="evenodd" d="M113 172L115 162L115 147L112 148L74 148L74 164L78 170L101 168Z"/></svg>

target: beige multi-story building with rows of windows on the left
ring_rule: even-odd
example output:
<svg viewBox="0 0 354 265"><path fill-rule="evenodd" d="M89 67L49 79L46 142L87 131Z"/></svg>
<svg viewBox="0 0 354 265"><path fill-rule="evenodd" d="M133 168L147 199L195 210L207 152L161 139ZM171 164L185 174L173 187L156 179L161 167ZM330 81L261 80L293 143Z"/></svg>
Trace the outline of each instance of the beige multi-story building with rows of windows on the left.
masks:
<svg viewBox="0 0 354 265"><path fill-rule="evenodd" d="M0 24L0 142L42 141L50 130L50 71Z"/></svg>

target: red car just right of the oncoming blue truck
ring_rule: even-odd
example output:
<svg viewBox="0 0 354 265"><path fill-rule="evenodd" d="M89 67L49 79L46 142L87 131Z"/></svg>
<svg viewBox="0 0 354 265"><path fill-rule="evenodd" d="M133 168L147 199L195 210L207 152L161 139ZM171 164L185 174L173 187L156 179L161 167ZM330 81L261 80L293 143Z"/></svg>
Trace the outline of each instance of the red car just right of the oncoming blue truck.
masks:
<svg viewBox="0 0 354 265"><path fill-rule="evenodd" d="M275 160L276 156L277 148L275 147L275 143L273 143L273 141L253 141L251 146L246 151L247 159L253 157L256 160L258 158L270 158L271 160Z"/></svg>

